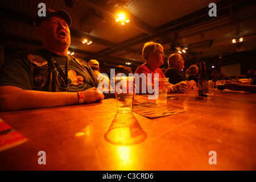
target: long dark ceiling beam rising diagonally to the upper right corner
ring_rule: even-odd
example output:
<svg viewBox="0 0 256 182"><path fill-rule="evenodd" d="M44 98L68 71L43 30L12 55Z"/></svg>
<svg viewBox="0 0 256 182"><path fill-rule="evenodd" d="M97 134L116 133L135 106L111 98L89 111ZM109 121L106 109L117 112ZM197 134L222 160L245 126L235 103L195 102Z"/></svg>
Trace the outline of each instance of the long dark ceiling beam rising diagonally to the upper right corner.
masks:
<svg viewBox="0 0 256 182"><path fill-rule="evenodd" d="M197 10L191 14L185 15L181 18L178 18L176 20L173 20L171 22L168 22L166 24L163 24L162 26L156 27L154 34L146 35L141 34L141 37L138 37L137 39L132 39L130 41L123 41L118 44L117 48L115 49L105 49L104 51L97 52L94 57L88 57L88 59L94 59L96 57L101 57L106 54L113 53L115 51L118 51L119 49L124 49L127 47L132 47L137 44L141 44L143 42L148 42L152 39L161 37L162 35L172 34L175 31L184 30L184 28L188 28L190 26L195 26L195 24L202 23L202 22L209 22L214 21L220 18L223 18L225 16L229 16L229 9L230 6L235 6L236 9L242 9L243 7L254 5L256 1L237 1L233 4L230 4L229 1L222 0L220 2L217 2L217 7L222 7L221 9L217 9L217 17L210 17L208 15L209 8L205 7L203 9ZM175 40L170 39L171 42L166 43L174 43Z"/></svg>

